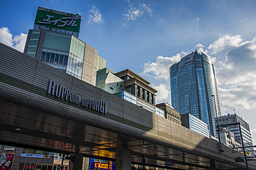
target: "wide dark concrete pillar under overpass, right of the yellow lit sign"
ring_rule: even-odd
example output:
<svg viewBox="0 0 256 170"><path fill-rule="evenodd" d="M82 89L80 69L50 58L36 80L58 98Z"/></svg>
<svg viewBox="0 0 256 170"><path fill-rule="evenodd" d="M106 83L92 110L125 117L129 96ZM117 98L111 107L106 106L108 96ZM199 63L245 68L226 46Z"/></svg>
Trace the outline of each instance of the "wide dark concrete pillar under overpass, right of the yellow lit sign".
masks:
<svg viewBox="0 0 256 170"><path fill-rule="evenodd" d="M116 149L116 170L131 170L131 150Z"/></svg>

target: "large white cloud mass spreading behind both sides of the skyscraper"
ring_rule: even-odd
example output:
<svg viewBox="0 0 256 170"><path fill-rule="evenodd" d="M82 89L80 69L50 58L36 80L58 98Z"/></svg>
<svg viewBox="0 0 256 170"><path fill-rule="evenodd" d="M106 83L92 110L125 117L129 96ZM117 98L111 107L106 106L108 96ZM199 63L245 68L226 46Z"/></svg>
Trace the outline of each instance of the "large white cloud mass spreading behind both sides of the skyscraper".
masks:
<svg viewBox="0 0 256 170"><path fill-rule="evenodd" d="M251 41L243 41L240 35L225 35L208 46L201 43L192 50L211 54L210 58L217 70L219 94L223 114L226 110L242 116L250 124L256 135L256 36ZM158 56L155 63L145 63L143 75L154 78L154 88L158 89L158 103L170 101L169 68L190 52L181 52L172 57ZM166 83L163 83L163 79ZM169 96L169 98L167 98ZM255 139L254 139L255 140Z"/></svg>

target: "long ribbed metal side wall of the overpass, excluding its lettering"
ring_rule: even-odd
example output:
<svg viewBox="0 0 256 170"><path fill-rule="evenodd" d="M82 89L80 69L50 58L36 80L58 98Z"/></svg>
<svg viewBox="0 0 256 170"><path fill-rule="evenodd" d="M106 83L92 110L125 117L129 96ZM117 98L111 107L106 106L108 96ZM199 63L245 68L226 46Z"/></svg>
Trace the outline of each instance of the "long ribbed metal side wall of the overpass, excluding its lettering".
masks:
<svg viewBox="0 0 256 170"><path fill-rule="evenodd" d="M194 131L172 123L127 100L80 81L26 54L0 43L0 102L8 101L47 114L131 136L157 145L186 151L194 155L234 163L232 149L205 138ZM62 85L76 96L107 102L107 114L48 94L50 80ZM238 163L239 164L239 163ZM244 164L241 164L244 167Z"/></svg>

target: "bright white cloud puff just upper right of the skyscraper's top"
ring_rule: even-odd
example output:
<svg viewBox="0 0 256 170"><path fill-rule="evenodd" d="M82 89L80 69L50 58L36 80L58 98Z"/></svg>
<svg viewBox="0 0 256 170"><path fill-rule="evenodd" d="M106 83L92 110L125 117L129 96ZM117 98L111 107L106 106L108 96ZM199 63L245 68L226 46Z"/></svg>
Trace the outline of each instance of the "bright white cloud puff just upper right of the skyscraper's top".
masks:
<svg viewBox="0 0 256 170"><path fill-rule="evenodd" d="M241 43L243 39L241 39L240 35L230 36L225 35L220 37L217 41L214 41L211 45L209 45L208 50L212 50L212 54L217 54L217 52L221 52L223 50L230 50L232 47L237 47L239 43Z"/></svg>

